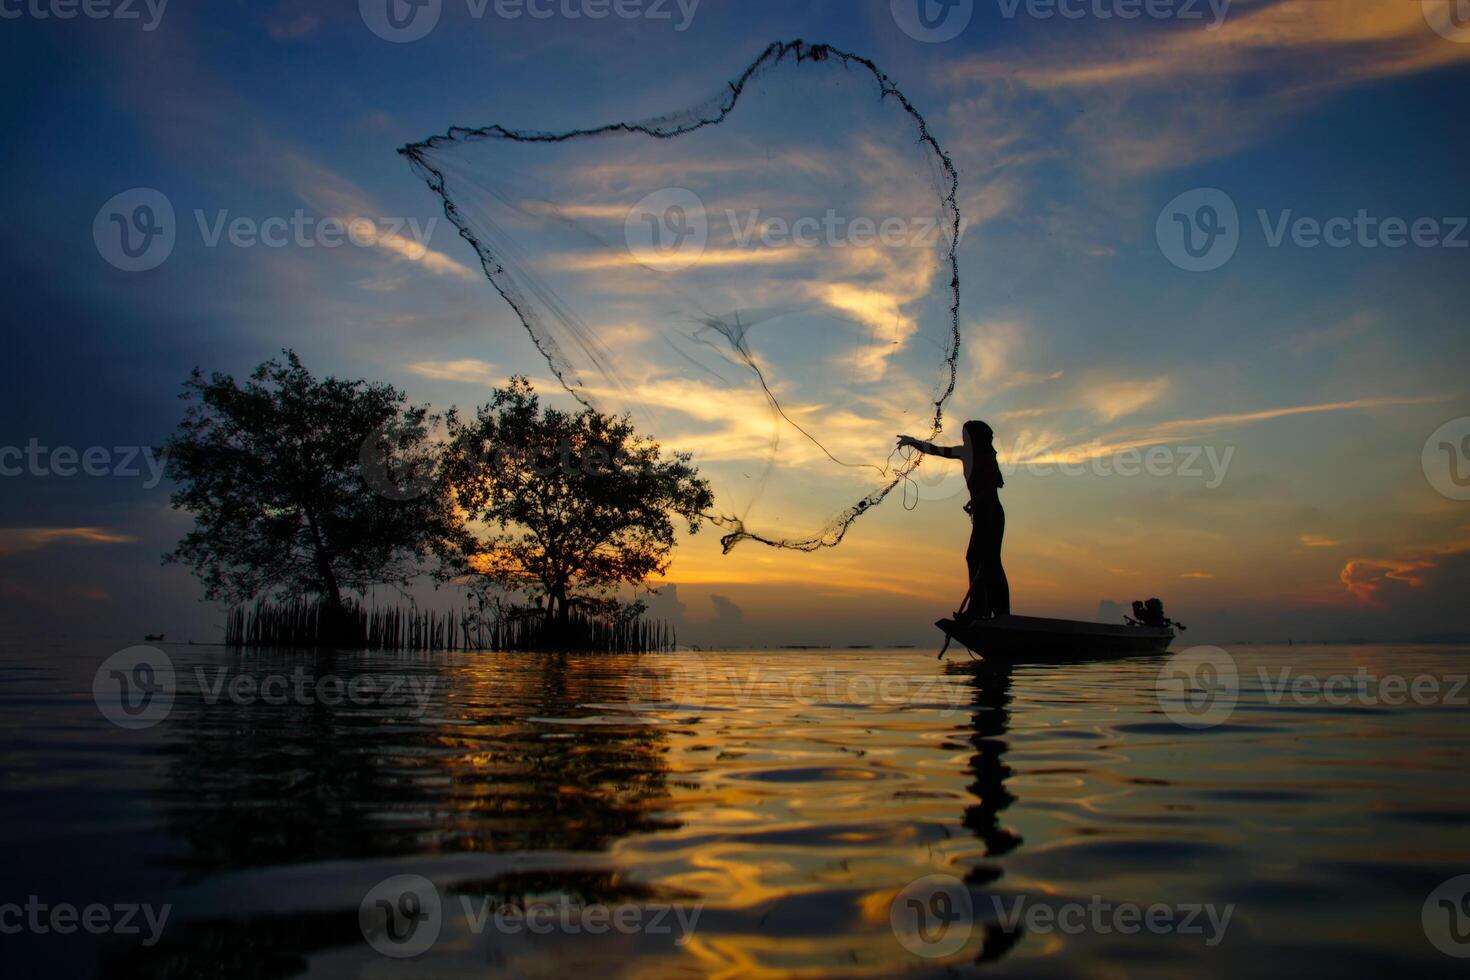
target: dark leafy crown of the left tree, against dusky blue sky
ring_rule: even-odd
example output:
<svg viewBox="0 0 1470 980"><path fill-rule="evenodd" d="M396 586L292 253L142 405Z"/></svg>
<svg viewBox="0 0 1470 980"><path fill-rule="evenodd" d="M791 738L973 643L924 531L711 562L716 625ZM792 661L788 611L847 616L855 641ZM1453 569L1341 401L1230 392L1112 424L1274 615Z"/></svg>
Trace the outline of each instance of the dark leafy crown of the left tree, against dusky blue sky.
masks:
<svg viewBox="0 0 1470 980"><path fill-rule="evenodd" d="M194 529L165 555L212 599L406 585L453 533L434 479L437 419L387 383L313 378L294 351L244 383L196 369L166 444L172 502Z"/></svg>

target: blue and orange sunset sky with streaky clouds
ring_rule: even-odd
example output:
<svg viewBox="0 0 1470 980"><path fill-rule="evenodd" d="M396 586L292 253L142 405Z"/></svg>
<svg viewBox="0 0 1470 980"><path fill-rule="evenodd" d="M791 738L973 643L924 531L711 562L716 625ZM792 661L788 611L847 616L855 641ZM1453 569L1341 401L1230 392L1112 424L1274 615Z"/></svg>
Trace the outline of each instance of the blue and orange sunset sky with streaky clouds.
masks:
<svg viewBox="0 0 1470 980"><path fill-rule="evenodd" d="M1100 604L1158 595L1191 641L1470 630L1470 502L1436 489L1424 453L1470 416L1470 137L1452 97L1470 81L1470 28L1448 6L1235 0L1217 21L1202 1L1202 19L1120 19L1097 16L1111 3L1036 18L1023 0L973 0L944 41L911 37L888 0L662 6L669 19L507 19L494 3L473 16L479 4L442 0L410 43L378 37L354 3L175 0L153 29L147 18L0 24L10 76L38 82L4 106L22 150L6 163L0 228L0 445L107 447L118 460L115 447L168 436L190 369L238 376L282 347L315 373L388 381L437 408L479 404L512 373L551 394L547 361L395 150L456 125L563 131L682 110L772 41L803 38L876 62L958 170L961 348L941 441L970 417L997 432L1017 613L1094 619ZM728 143L588 148L554 166L528 157L526 172L607 229L663 187L695 187L711 213L726 201L820 213L825 192L876 217L933 206L932 184L895 176L923 169L914 145L861 128L882 119L760 97L759 126ZM769 135L763 151L716 153L751 134ZM573 187L589 160L629 172L597 170L597 192ZM832 166L851 169L838 179ZM503 169L485 176L513 184ZM98 210L132 188L176 216L172 251L143 272L94 239ZM1180 267L1197 256L1170 239L1175 216L1222 200L1238 213L1226 213L1233 254ZM297 213L379 223L362 245L232 244L228 231L210 244L229 220ZM1339 219L1342 237L1317 241L1301 217ZM1401 232L1395 247L1388 219L1419 239ZM500 228L572 275L595 264ZM939 254L853 260L844 279L711 232L682 279L642 266L600 279L606 295L620 289L617 309L579 285L557 292L613 351L613 376L637 382L653 435L738 488L770 458L769 414L723 400L641 310L707 295L703 275L776 306L800 294L825 316L892 323L882 350L816 328L792 328L784 336L806 339L789 348L756 344L782 403L822 420L829 448L882 463L900 417L923 416L908 382L939 367L920 356L948 329ZM861 483L851 473L822 475L789 430L781 445L751 514L816 530L857 500L838 492ZM0 478L0 629L216 638L219 610L187 570L159 564L188 517L166 480L134 466ZM963 488L941 466L922 466L907 501L895 491L835 548L745 542L726 555L707 527L681 544L656 608L703 644L929 642L964 592L969 530ZM732 508L750 504L729 494Z"/></svg>

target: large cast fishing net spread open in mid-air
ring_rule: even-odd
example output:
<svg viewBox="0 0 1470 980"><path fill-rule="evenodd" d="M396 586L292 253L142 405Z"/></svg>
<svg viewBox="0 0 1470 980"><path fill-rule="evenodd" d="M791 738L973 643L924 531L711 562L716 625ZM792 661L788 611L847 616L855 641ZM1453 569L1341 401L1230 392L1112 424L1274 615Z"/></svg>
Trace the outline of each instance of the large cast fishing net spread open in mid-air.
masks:
<svg viewBox="0 0 1470 980"><path fill-rule="evenodd" d="M404 147L581 403L695 454L729 551L838 544L954 389L957 176L867 59L772 44L682 112ZM537 378L539 366L525 373Z"/></svg>

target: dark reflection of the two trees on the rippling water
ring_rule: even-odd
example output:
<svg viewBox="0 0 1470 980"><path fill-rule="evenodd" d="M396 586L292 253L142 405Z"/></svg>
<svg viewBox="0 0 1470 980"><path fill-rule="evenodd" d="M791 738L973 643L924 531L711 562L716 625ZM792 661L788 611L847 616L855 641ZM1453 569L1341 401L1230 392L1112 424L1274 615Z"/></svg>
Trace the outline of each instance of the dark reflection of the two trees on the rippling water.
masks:
<svg viewBox="0 0 1470 980"><path fill-rule="evenodd" d="M494 851L601 851L669 826L662 729L556 724L582 705L629 698L637 658L495 657L375 673L435 677L422 718L410 701L387 710L315 704L206 704L181 698L171 714L169 782L159 801L188 877L253 867L391 855ZM298 657L263 654L232 670L290 674ZM323 655L316 676L344 679L363 660ZM379 673L381 676L381 673ZM206 671L213 677L213 669ZM456 893L514 902L562 892L584 902L647 896L598 870L504 874ZM103 976L287 977L315 951L362 943L357 908L259 914L171 924L153 949L121 952Z"/></svg>

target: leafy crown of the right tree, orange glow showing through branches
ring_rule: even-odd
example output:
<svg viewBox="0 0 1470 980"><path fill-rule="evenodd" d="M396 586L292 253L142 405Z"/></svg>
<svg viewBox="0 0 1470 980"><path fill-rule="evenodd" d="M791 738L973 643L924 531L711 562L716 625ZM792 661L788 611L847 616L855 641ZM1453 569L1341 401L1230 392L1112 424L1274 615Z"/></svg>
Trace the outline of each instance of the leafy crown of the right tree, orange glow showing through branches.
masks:
<svg viewBox="0 0 1470 980"><path fill-rule="evenodd" d="M450 567L545 599L550 616L619 607L620 586L667 570L676 522L694 533L713 504L688 453L664 457L628 416L542 408L525 378L445 425L442 479L488 529L460 538Z"/></svg>

